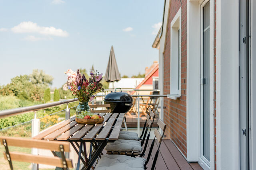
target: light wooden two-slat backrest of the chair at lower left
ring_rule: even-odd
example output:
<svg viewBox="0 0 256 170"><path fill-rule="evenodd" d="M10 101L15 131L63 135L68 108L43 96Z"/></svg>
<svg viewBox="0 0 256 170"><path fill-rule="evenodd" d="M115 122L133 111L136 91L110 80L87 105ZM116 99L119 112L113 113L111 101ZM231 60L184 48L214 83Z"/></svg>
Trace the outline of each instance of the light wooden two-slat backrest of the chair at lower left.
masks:
<svg viewBox="0 0 256 170"><path fill-rule="evenodd" d="M67 168L73 168L72 160L65 158L64 152L70 152L68 142L60 141L45 141L35 139L24 139L19 137L0 137L0 142L5 147L4 158L8 160L10 169L13 170L12 160L20 162L29 162L35 164L47 164L57 166L67 170ZM48 149L51 151L58 151L61 154L61 158L54 156L40 156L27 154L22 152L9 152L8 146L14 147L26 147L26 148L38 148Z"/></svg>

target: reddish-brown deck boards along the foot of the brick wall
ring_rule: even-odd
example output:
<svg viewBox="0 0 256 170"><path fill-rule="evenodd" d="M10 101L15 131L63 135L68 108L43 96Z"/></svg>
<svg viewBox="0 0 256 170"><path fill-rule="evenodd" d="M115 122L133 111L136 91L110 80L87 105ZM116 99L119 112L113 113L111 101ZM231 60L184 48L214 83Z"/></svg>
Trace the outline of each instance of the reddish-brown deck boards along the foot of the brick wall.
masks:
<svg viewBox="0 0 256 170"><path fill-rule="evenodd" d="M144 158L148 157L148 151L151 143L152 140L149 140ZM146 166L147 170L151 169L157 150L156 146L158 145L159 143L156 141L150 156L150 160ZM103 151L103 154L106 154L106 150ZM202 170L202 167L198 163L187 162L172 141L170 139L164 139L160 146L160 152L156 161L155 170Z"/></svg>

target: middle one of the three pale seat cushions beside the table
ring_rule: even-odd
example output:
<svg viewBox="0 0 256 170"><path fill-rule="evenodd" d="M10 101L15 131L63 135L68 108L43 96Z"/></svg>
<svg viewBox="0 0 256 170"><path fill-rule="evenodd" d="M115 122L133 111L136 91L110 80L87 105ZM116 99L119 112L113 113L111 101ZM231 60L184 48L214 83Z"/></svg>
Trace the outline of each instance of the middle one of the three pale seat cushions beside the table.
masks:
<svg viewBox="0 0 256 170"><path fill-rule="evenodd" d="M139 141L118 139L113 143L108 143L105 149L114 152L140 152L142 147Z"/></svg>

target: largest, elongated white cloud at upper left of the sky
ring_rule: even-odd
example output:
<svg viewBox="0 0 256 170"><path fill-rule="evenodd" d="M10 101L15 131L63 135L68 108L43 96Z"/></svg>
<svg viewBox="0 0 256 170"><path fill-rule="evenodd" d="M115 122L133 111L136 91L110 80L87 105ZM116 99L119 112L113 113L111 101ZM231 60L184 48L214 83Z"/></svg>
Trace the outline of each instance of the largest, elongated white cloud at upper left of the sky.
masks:
<svg viewBox="0 0 256 170"><path fill-rule="evenodd" d="M14 33L40 33L42 35L54 35L68 37L68 32L55 27L42 27L31 21L24 21L11 29Z"/></svg>

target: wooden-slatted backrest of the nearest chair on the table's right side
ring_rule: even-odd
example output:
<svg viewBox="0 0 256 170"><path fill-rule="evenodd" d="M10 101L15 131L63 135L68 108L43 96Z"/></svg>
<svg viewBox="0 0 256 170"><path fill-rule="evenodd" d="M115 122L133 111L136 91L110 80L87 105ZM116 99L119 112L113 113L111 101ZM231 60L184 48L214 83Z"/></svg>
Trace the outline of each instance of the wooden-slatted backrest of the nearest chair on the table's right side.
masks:
<svg viewBox="0 0 256 170"><path fill-rule="evenodd" d="M152 167L151 167L151 170L154 170L155 168L155 165L156 165L156 160L157 160L157 157L158 157L158 154L159 154L159 149L160 149L160 145L162 143L162 140L163 140L163 137L164 137L164 132L166 130L166 124L164 124L164 122L160 119L158 119L158 128L154 131L154 134L155 134L155 137L151 143L151 147L150 147L150 150L148 152L148 157L147 157L147 160L146 160L146 163L145 163L145 166L148 164L148 161L150 160L150 157L151 157L151 153L152 153L152 150L153 150L153 147L154 147L154 143L155 143L155 139L157 139L159 145L158 145L158 149L156 151L156 154L154 156L154 160L153 160L153 164L152 164ZM162 135L159 131L159 128L162 130Z"/></svg>

